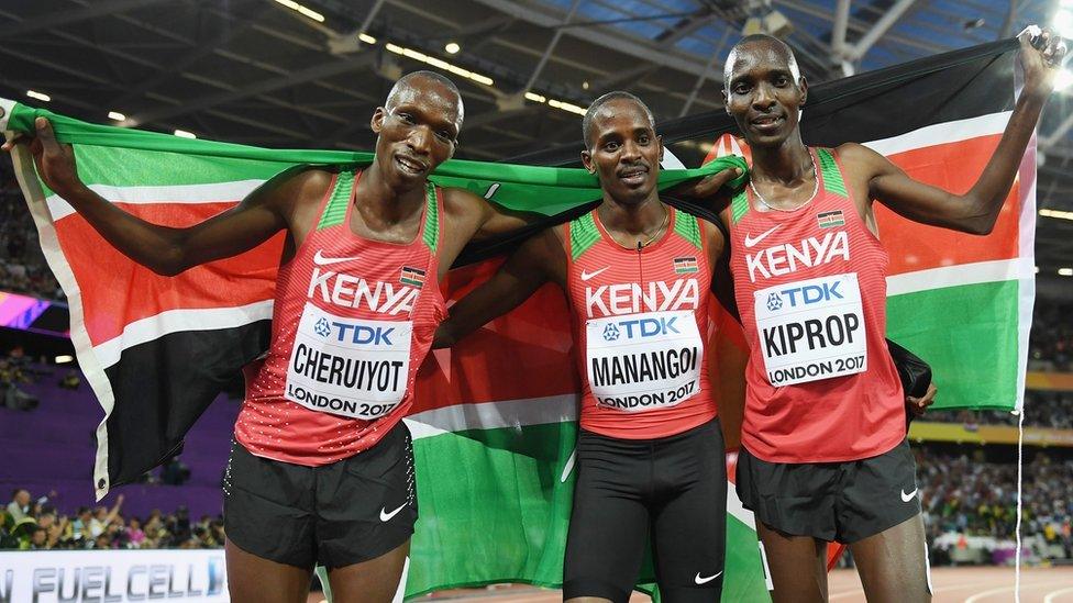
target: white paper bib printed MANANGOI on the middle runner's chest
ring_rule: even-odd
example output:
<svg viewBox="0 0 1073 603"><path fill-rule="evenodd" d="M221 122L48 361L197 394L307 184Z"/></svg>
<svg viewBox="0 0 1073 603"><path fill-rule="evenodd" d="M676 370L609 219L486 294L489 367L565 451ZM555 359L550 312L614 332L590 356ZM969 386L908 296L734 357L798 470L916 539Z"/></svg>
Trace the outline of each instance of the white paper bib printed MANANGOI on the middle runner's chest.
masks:
<svg viewBox="0 0 1073 603"><path fill-rule="evenodd" d="M585 328L597 404L643 412L674 406L699 391L704 340L693 311L590 319Z"/></svg>

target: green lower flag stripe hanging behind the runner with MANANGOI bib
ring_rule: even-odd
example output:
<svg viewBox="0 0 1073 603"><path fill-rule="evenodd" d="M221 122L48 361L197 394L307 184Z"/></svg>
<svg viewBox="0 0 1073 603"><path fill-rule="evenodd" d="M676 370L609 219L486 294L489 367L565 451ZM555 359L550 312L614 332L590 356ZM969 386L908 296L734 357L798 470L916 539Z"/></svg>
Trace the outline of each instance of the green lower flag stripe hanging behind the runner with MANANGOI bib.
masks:
<svg viewBox="0 0 1073 603"><path fill-rule="evenodd" d="M576 437L573 421L416 437L424 470L407 598L504 582L562 585L577 471L564 480L563 469ZM756 532L729 514L727 528L722 600L770 601ZM653 576L648 559L639 584Z"/></svg>

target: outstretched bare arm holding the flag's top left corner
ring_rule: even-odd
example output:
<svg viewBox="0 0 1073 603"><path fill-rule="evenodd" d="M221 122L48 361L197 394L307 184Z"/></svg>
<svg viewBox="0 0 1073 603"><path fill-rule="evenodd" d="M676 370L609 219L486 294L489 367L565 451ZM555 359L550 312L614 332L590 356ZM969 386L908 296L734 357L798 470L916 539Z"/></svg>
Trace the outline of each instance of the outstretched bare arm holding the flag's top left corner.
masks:
<svg viewBox="0 0 1073 603"><path fill-rule="evenodd" d="M9 141L3 150L29 142L37 172L106 241L124 255L161 275L177 275L192 266L251 249L287 227L288 211L280 200L294 200L307 189L327 188L324 172L303 172L262 187L231 210L187 228L148 223L131 215L87 187L78 177L70 145L56 141L52 124L37 118L36 136Z"/></svg>

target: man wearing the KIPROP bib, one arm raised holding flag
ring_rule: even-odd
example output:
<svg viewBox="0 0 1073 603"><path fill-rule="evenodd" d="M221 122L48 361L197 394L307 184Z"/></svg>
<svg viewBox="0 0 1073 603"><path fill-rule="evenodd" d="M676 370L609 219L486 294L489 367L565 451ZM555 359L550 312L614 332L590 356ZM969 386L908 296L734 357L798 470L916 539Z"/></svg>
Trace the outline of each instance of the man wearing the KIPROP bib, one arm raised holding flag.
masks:
<svg viewBox="0 0 1073 603"><path fill-rule="evenodd" d="M754 35L730 53L727 111L753 160L750 187L721 214L750 346L737 488L755 513L775 601L827 600L828 541L849 545L870 601L931 598L872 203L991 232L1065 53L1035 33L1020 37L1025 87L1006 132L964 194L918 182L859 144L805 146L808 86L789 47Z"/></svg>

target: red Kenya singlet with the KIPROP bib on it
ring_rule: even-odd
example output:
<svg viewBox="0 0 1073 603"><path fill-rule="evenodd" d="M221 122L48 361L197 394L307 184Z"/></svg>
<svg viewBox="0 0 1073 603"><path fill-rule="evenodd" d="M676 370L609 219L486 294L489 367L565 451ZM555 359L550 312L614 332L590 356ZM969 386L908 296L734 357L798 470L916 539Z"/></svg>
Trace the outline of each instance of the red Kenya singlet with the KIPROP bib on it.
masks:
<svg viewBox="0 0 1073 603"><path fill-rule="evenodd" d="M770 462L856 460L906 436L886 348L888 256L861 219L833 150L812 149L815 199L731 206L731 271L749 342L742 444Z"/></svg>

